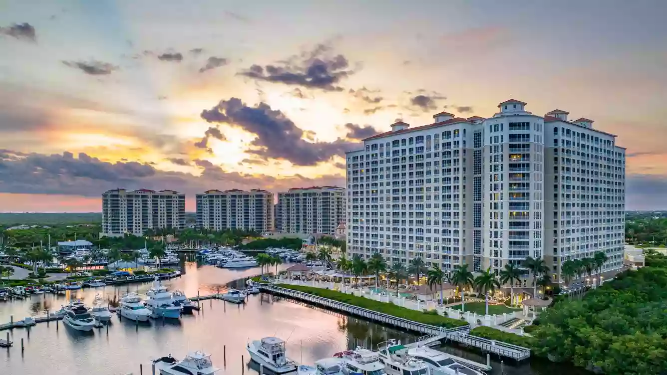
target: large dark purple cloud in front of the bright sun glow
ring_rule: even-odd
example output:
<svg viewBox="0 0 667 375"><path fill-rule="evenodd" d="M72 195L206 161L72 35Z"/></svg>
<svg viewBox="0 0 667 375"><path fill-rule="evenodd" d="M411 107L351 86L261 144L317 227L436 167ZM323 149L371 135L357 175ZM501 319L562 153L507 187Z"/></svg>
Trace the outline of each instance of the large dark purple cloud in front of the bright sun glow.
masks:
<svg viewBox="0 0 667 375"><path fill-rule="evenodd" d="M253 148L247 153L287 160L293 165L317 165L358 146L344 139L307 142L303 139L305 133L302 129L266 103L248 107L241 99L231 98L202 111L201 118L209 123L227 123L254 134Z"/></svg>

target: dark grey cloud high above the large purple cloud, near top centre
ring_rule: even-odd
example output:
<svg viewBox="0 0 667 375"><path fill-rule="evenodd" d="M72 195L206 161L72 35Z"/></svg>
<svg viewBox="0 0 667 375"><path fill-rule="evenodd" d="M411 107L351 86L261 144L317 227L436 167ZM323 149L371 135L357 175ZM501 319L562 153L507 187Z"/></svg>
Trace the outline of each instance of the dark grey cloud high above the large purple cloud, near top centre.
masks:
<svg viewBox="0 0 667 375"><path fill-rule="evenodd" d="M297 85L324 91L342 91L343 88L337 84L354 71L347 70L348 59L343 55L327 57L325 55L328 51L327 45L320 44L310 53L302 53L299 56L290 57L287 61L279 62L281 65L261 67L255 64L241 71L239 75L284 85Z"/></svg>

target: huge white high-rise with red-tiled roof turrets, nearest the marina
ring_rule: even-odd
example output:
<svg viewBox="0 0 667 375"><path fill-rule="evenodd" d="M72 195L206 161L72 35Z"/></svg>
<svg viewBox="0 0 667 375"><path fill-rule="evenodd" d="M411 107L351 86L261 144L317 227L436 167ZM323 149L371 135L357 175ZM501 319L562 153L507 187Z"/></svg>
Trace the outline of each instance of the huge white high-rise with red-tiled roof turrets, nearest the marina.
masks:
<svg viewBox="0 0 667 375"><path fill-rule="evenodd" d="M348 252L496 273L532 256L558 281L565 260L602 251L604 271L618 270L625 149L592 120L525 106L505 101L488 119L443 112L414 128L399 121L348 153ZM530 284L523 272L517 286Z"/></svg>

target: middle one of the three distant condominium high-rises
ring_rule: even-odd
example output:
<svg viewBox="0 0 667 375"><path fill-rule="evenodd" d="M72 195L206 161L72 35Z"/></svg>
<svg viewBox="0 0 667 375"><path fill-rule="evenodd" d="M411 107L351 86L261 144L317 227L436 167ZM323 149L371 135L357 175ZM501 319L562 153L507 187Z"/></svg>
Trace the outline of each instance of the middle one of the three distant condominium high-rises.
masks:
<svg viewBox="0 0 667 375"><path fill-rule="evenodd" d="M197 194L197 227L270 232L273 230L273 193L231 189Z"/></svg>

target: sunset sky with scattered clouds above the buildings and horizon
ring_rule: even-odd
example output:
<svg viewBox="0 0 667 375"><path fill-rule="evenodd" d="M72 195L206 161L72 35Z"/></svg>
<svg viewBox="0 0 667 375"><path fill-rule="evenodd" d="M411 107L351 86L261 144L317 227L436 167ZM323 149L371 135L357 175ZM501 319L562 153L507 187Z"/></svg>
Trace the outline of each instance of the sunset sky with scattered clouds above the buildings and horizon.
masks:
<svg viewBox="0 0 667 375"><path fill-rule="evenodd" d="M110 188L344 186L344 153L507 99L627 151L667 209L667 1L0 3L0 212L101 210Z"/></svg>

